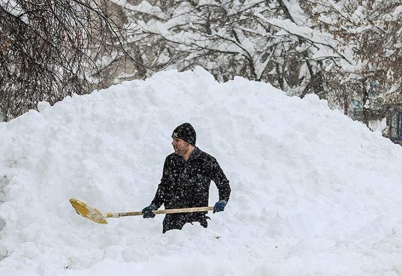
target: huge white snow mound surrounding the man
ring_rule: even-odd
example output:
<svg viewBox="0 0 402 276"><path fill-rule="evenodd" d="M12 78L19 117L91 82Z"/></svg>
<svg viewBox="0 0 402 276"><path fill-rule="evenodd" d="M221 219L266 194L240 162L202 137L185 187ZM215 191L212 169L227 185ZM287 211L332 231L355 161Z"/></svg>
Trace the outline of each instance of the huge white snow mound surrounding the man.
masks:
<svg viewBox="0 0 402 276"><path fill-rule="evenodd" d="M0 123L2 276L402 274L402 149L315 95L197 67L39 109ZM147 206L182 122L231 181L207 229L74 212Z"/></svg>

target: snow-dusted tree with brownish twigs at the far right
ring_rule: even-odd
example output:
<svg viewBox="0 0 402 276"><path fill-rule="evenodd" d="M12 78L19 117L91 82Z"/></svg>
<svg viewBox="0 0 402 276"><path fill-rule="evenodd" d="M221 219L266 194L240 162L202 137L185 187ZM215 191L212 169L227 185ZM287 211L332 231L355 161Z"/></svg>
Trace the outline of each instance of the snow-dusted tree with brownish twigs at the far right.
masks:
<svg viewBox="0 0 402 276"><path fill-rule="evenodd" d="M331 35L345 59L334 59L327 89L338 90L347 113L368 124L400 103L402 4L389 0L300 0L314 28ZM340 92L341 91L341 92Z"/></svg>

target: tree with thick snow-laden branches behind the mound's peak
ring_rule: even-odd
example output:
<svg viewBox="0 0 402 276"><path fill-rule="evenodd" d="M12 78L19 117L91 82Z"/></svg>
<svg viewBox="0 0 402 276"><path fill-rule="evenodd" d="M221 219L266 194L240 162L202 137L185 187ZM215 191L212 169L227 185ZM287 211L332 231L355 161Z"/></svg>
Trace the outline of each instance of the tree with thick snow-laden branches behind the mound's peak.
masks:
<svg viewBox="0 0 402 276"><path fill-rule="evenodd" d="M141 49L152 45L146 55L155 62L177 55L173 64L180 71L201 65L220 81L240 75L289 94L323 92L322 61L313 56L328 45L303 32L298 5L289 9L285 0L114 2L138 26L131 40Z"/></svg>

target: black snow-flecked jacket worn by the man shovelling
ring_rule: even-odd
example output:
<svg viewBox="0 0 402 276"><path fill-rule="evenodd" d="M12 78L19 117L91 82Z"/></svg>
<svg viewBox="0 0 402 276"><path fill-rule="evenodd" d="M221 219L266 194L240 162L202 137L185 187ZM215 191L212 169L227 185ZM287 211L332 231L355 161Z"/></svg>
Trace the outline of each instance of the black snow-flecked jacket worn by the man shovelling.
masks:
<svg viewBox="0 0 402 276"><path fill-rule="evenodd" d="M229 180L214 157L198 148L187 161L173 153L166 157L152 204L157 208L164 204L165 209L206 207L211 180L217 185L219 200L228 201Z"/></svg>

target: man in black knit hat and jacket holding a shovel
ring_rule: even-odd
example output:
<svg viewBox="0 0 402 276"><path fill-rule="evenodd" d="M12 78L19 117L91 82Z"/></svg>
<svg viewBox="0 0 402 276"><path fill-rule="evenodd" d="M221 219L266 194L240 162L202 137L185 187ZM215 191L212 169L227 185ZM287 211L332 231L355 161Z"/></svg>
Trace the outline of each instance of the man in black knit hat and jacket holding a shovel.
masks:
<svg viewBox="0 0 402 276"><path fill-rule="evenodd" d="M195 147L195 130L189 123L183 123L172 134L174 153L166 157L163 175L151 204L142 210L144 218L153 218L153 210L162 204L165 209L206 207L211 180L219 191L215 212L222 212L230 196L229 180L216 159ZM163 230L180 229L186 223L199 222L208 227L207 212L166 214Z"/></svg>

